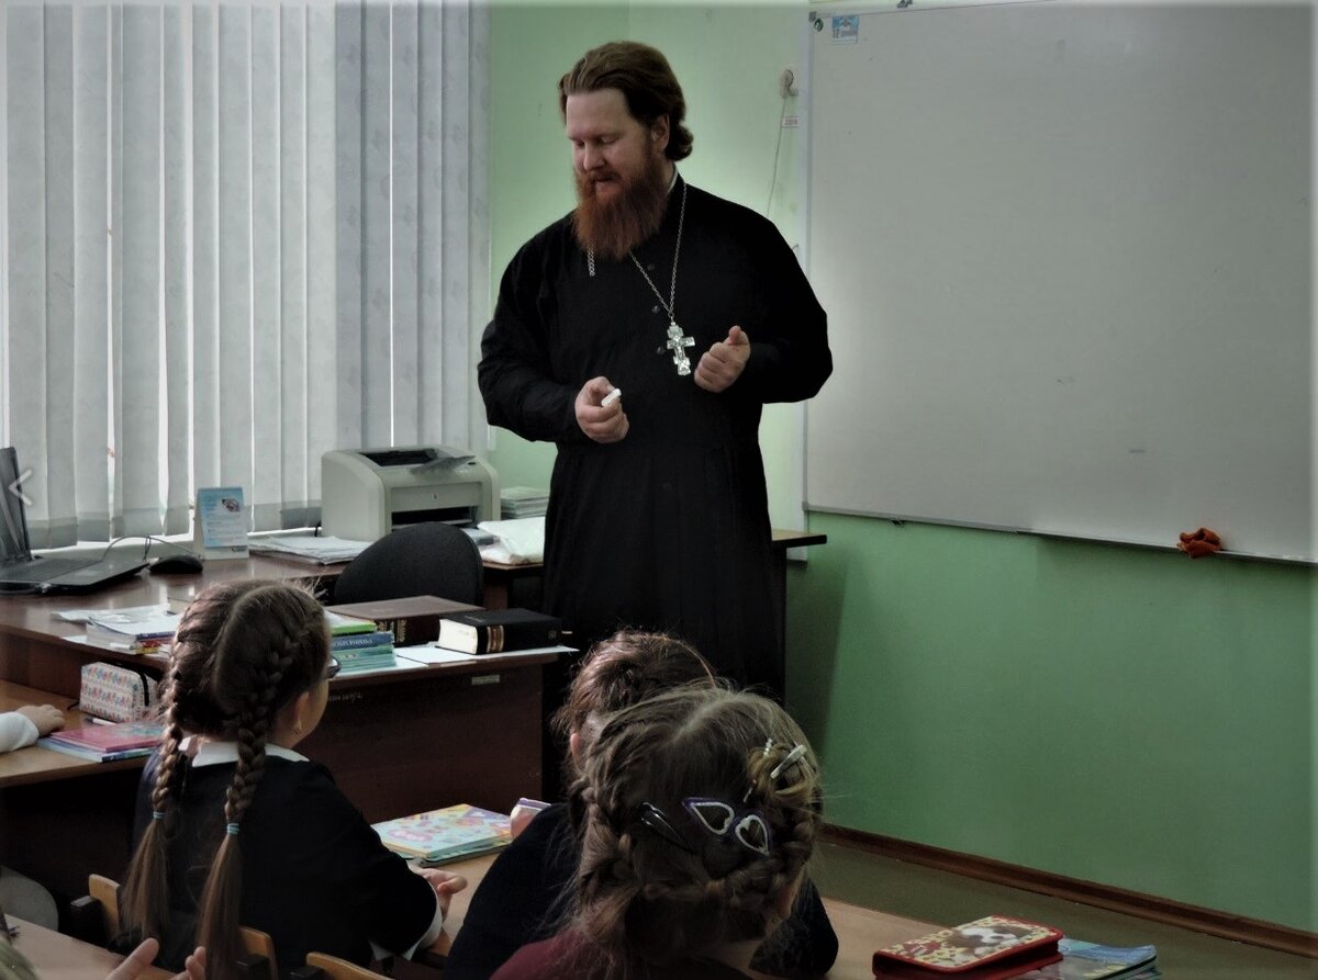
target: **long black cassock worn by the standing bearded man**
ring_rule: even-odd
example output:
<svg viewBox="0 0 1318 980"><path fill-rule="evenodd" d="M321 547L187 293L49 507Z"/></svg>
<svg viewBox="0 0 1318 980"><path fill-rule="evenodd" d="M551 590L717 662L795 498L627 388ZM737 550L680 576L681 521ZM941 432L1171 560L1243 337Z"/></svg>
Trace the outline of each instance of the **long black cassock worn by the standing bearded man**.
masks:
<svg viewBox="0 0 1318 980"><path fill-rule="evenodd" d="M573 644L619 627L664 630L725 676L780 692L759 418L764 402L820 390L833 369L826 319L767 219L680 178L662 228L634 250L664 302L684 187L673 313L693 340L692 374L677 374L668 313L631 258L596 257L592 277L564 217L503 274L480 387L493 424L558 444L544 606ZM734 324L750 361L712 394L693 373ZM590 441L575 412L581 386L601 374L622 389L630 423L608 445Z"/></svg>

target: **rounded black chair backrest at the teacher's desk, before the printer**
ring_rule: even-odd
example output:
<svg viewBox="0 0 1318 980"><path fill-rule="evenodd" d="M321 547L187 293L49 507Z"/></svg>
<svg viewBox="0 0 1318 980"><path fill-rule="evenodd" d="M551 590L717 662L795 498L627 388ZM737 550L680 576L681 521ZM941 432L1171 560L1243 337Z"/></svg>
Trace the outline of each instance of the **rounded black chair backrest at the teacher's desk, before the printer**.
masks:
<svg viewBox="0 0 1318 980"><path fill-rule="evenodd" d="M482 605L485 568L476 543L452 524L411 524L385 535L348 562L333 602L376 602L409 595Z"/></svg>

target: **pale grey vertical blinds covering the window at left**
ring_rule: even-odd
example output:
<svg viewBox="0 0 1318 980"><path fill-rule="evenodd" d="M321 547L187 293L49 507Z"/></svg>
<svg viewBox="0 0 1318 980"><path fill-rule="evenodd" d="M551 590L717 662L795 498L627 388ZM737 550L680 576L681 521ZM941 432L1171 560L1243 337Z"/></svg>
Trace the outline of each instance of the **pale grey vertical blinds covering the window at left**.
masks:
<svg viewBox="0 0 1318 980"><path fill-rule="evenodd" d="M36 547L312 523L333 448L473 443L478 4L0 5L0 414Z"/></svg>

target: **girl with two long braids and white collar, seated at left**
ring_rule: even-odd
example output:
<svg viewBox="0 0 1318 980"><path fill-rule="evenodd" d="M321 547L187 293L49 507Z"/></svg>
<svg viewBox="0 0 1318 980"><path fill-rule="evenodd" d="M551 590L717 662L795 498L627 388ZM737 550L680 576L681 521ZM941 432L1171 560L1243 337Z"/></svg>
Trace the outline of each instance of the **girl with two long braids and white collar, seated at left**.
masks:
<svg viewBox="0 0 1318 980"><path fill-rule="evenodd" d="M203 944L211 980L231 980L240 926L270 934L285 976L311 951L365 966L439 938L467 883L414 873L294 751L337 667L324 611L289 584L211 586L179 620L121 902L134 942L159 939L159 966L177 971Z"/></svg>

